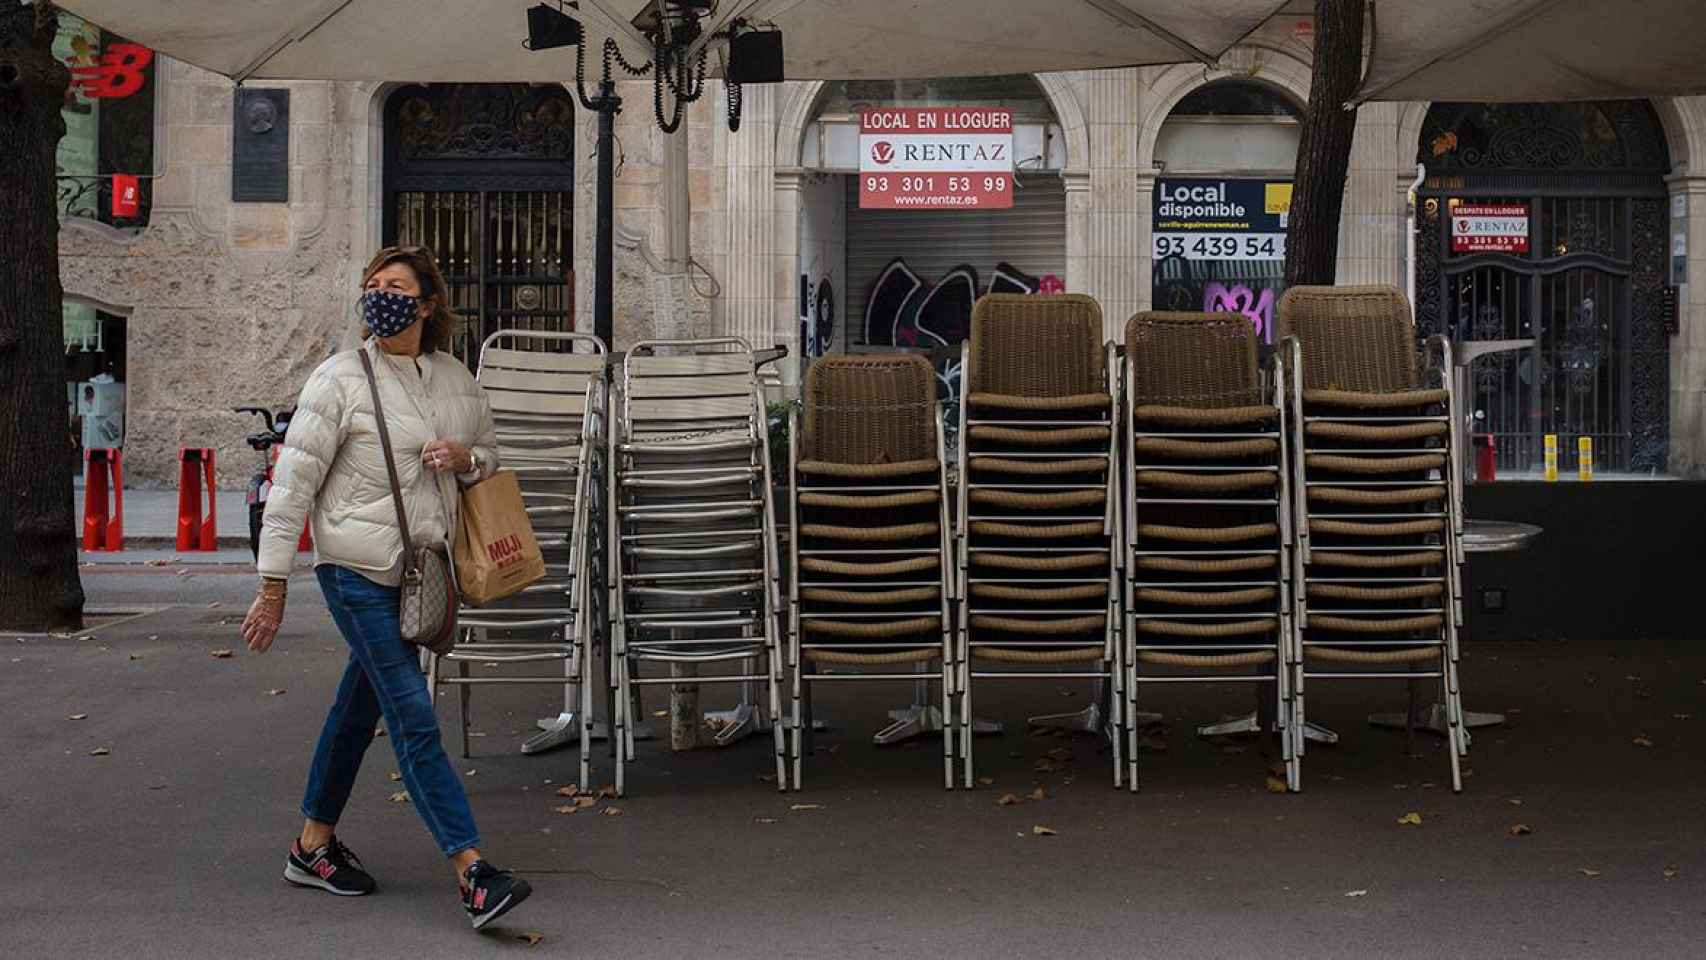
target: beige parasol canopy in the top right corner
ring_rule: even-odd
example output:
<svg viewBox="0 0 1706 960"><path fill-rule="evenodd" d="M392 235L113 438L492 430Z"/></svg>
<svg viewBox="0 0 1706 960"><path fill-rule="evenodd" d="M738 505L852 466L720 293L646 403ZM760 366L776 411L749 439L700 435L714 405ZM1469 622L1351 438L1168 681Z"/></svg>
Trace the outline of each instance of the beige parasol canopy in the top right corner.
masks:
<svg viewBox="0 0 1706 960"><path fill-rule="evenodd" d="M1706 94L1706 0L1375 0L1358 101Z"/></svg>

